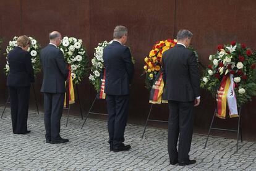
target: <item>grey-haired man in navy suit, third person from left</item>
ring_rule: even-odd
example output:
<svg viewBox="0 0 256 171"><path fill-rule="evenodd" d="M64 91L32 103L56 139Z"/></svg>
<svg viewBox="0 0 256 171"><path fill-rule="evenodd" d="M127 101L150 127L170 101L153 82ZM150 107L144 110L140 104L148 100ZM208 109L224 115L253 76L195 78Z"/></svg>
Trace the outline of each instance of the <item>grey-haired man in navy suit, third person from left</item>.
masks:
<svg viewBox="0 0 256 171"><path fill-rule="evenodd" d="M127 41L127 33L126 27L117 26L114 29L113 43L103 51L109 149L114 152L130 149L130 145L123 143L129 109L129 85L134 75L130 49L123 45Z"/></svg>

